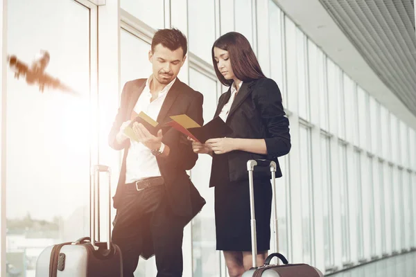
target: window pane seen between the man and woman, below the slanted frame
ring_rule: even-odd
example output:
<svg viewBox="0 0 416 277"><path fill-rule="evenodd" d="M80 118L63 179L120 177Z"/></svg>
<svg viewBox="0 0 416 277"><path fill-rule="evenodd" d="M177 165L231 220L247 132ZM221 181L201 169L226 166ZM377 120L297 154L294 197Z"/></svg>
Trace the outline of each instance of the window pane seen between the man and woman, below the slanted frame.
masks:
<svg viewBox="0 0 416 277"><path fill-rule="evenodd" d="M189 69L189 85L204 93L204 121L214 117L216 107L216 81L195 69ZM207 204L192 220L193 276L216 277L220 275L220 251L216 251L214 188L209 188L211 156L200 154L196 166L191 170L191 180Z"/></svg>

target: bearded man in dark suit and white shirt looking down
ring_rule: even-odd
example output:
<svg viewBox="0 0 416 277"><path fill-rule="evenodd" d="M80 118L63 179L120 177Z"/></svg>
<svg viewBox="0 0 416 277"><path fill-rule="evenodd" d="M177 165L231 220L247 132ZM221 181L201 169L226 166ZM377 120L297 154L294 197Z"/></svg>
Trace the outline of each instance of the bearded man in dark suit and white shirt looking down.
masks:
<svg viewBox="0 0 416 277"><path fill-rule="evenodd" d="M186 172L198 155L183 134L164 127L169 116L178 114L203 124L202 94L177 78L186 54L187 38L180 30L155 33L148 53L153 74L125 83L110 132L110 146L124 150L113 197L117 213L112 233L123 255L124 277L133 276L139 256L153 255L157 276L182 276L183 229L205 204ZM135 122L135 141L125 136L124 129L140 111L162 129L151 134Z"/></svg>

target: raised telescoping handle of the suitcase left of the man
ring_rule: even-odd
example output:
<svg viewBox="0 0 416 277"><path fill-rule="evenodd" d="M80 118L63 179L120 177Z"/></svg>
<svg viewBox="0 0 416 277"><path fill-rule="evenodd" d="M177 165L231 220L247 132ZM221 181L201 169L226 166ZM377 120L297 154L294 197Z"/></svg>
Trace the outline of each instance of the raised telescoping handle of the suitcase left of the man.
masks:
<svg viewBox="0 0 416 277"><path fill-rule="evenodd" d="M97 199L97 194L99 191L99 181L98 181L98 175L100 172L106 172L108 175L108 229L107 229L107 249L110 249L111 246L111 169L108 166L103 166L103 165L95 165L92 166L91 168L91 175L92 175L92 191L91 191L91 212L92 212L92 228L91 228L91 244L94 246L94 248L96 248L96 206L98 201L96 201ZM99 218L99 208L98 208L98 218ZM100 233L100 223L98 221L98 227L97 227L97 231L98 231L98 240L100 240L99 238L99 233Z"/></svg>

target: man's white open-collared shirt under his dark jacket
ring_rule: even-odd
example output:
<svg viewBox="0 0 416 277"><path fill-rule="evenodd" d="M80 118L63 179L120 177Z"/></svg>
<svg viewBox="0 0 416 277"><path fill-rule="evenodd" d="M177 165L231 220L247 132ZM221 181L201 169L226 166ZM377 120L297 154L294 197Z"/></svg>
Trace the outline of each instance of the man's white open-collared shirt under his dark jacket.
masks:
<svg viewBox="0 0 416 277"><path fill-rule="evenodd" d="M139 114L140 111L144 111L150 118L156 121L163 102L166 99L166 95L176 78L167 84L162 91L159 91L157 98L155 98L153 102L150 102L152 98L152 93L150 93L150 83L152 80L153 75L146 80L146 86L141 92L139 99L137 99L133 111L137 114ZM130 140L130 148L125 163L125 184L148 177L158 176L161 176L159 166L157 166L156 157L150 152L150 149L142 143Z"/></svg>

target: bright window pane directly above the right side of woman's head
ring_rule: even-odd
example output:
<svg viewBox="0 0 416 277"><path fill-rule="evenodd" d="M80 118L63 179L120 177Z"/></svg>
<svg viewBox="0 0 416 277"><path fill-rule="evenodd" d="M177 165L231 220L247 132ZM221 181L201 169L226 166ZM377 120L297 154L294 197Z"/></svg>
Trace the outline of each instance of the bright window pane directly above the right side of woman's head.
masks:
<svg viewBox="0 0 416 277"><path fill-rule="evenodd" d="M236 1L234 1L234 3L236 3ZM239 0L238 5L235 4L234 8L236 32L239 32L247 37L252 48L254 49L252 0ZM230 10L229 12L232 11Z"/></svg>

